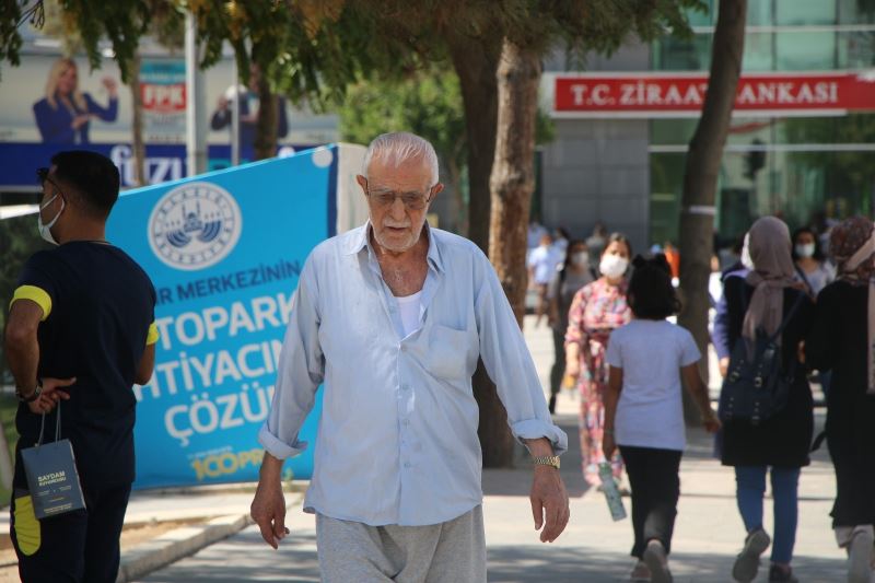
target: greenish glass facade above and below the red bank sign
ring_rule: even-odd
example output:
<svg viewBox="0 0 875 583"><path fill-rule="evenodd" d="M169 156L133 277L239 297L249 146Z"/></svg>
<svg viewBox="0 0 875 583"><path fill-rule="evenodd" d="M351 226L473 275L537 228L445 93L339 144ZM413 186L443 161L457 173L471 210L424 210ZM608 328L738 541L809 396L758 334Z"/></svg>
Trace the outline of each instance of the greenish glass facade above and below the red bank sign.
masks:
<svg viewBox="0 0 875 583"><path fill-rule="evenodd" d="M707 71L718 2L690 40L652 47L656 71ZM745 72L875 68L875 0L749 0ZM677 242L686 148L697 119L650 121L653 243ZM733 117L718 184L719 242L779 214L791 228L875 212L875 114Z"/></svg>

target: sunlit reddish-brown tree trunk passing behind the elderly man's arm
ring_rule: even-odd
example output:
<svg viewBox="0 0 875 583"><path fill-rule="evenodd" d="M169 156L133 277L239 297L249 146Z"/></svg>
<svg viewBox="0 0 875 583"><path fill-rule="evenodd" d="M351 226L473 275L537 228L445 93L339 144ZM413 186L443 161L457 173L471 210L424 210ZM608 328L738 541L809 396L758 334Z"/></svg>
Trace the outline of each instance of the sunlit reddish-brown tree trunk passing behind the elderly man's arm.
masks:
<svg viewBox="0 0 875 583"><path fill-rule="evenodd" d="M539 80L539 55L505 39L498 69L498 132L490 177L489 258L521 327L526 294L526 225L535 189L535 118ZM509 467L513 465L514 442L508 429L508 413L494 387L490 388L480 395L483 466Z"/></svg>

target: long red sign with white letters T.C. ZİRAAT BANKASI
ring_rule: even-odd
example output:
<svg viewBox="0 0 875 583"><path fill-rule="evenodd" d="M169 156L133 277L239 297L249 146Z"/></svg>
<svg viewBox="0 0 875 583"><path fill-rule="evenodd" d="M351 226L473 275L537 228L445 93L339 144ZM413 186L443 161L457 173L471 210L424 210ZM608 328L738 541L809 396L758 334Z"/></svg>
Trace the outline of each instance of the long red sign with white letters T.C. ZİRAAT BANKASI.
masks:
<svg viewBox="0 0 875 583"><path fill-rule="evenodd" d="M686 117L701 110L708 75L558 75L555 91L553 110L560 115ZM875 110L875 74L745 74L738 80L735 110L771 115Z"/></svg>

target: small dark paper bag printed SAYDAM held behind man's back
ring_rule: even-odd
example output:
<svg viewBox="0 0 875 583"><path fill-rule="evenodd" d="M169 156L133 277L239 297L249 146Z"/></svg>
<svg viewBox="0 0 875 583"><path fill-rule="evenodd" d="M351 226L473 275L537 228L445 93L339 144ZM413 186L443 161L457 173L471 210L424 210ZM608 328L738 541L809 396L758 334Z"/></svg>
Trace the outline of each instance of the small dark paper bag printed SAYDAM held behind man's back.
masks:
<svg viewBox="0 0 875 583"><path fill-rule="evenodd" d="M46 413L39 424L39 441L21 451L27 488L37 520L57 516L85 508L79 470L75 467L73 445L61 436L61 404L58 403L55 421L55 441L43 443Z"/></svg>

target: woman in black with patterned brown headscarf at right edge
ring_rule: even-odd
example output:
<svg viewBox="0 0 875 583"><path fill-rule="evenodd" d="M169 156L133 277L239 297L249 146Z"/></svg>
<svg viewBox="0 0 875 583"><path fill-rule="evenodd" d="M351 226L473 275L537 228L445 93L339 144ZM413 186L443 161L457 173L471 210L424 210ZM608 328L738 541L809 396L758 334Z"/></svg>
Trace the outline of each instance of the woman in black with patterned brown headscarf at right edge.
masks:
<svg viewBox="0 0 875 583"><path fill-rule="evenodd" d="M827 444L836 469L832 527L851 583L875 581L875 225L855 217L829 241L838 279L817 296L805 342L809 364L832 371ZM865 317L864 317L865 316Z"/></svg>

